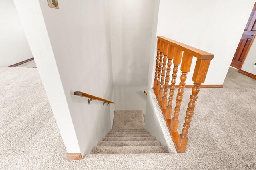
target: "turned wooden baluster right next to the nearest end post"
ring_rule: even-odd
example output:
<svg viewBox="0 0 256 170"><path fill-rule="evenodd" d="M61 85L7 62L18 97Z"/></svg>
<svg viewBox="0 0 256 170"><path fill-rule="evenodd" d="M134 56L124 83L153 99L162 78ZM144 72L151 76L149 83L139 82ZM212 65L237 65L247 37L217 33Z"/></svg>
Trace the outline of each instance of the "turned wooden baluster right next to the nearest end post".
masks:
<svg viewBox="0 0 256 170"><path fill-rule="evenodd" d="M193 58L193 55L191 55L190 53L186 53L184 51L181 68L180 68L180 70L182 71L181 72L182 75L180 76L180 85L179 85L178 94L176 98L176 107L174 109L174 115L172 117L171 126L170 126L172 132L177 132L177 128L179 124L178 117L179 117L180 106L181 106L183 93L184 93L185 81L187 79L187 74L190 71L192 58Z"/></svg>

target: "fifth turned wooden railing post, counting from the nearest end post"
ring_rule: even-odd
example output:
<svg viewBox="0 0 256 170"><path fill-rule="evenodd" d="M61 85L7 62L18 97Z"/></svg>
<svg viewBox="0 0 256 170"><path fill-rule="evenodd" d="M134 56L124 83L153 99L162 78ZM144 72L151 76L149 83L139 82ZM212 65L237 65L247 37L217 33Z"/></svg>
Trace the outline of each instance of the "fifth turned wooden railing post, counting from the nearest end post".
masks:
<svg viewBox="0 0 256 170"><path fill-rule="evenodd" d="M164 77L165 77L165 70L166 70L166 61L167 61L167 54L168 54L169 44L164 43L164 59L162 63L162 73L161 73L161 83L160 83L160 89L158 93L158 101L162 101L162 98L164 96Z"/></svg>

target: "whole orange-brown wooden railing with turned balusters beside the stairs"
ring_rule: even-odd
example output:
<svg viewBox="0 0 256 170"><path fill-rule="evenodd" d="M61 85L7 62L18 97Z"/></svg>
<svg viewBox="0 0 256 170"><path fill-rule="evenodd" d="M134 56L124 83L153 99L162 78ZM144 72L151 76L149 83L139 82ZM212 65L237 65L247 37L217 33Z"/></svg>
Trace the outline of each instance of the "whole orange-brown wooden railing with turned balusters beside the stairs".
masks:
<svg viewBox="0 0 256 170"><path fill-rule="evenodd" d="M163 36L158 36L157 45L157 59L156 59L156 72L154 79L154 92L156 99L162 109L166 124L169 128L170 134L174 141L177 152L184 153L186 151L186 145L188 143L188 129L190 127L190 122L192 121L192 116L194 114L194 108L196 106L196 100L198 98L198 93L200 91L200 85L204 83L207 71L210 65L210 61L213 59L214 55L189 45L171 40ZM179 115L181 113L181 104L184 93L185 81L187 79L187 74L190 72L192 58L196 57L196 65L194 68L194 74L192 81L194 85L192 87L192 95L190 95L190 102L188 103L188 108L186 109L185 122L183 124L182 133L178 134L177 129L179 125ZM167 69L166 60L168 59ZM173 59L173 60L172 60ZM172 81L170 81L170 67L174 64L172 70ZM178 72L178 66L181 64L180 71L180 83L178 91L176 92L176 107L172 109L172 103L174 98L176 77ZM166 74L165 71L167 70ZM165 84L164 84L165 79ZM169 97L167 96L167 91L170 89ZM168 97L168 102L167 102ZM173 117L172 117L173 113Z"/></svg>

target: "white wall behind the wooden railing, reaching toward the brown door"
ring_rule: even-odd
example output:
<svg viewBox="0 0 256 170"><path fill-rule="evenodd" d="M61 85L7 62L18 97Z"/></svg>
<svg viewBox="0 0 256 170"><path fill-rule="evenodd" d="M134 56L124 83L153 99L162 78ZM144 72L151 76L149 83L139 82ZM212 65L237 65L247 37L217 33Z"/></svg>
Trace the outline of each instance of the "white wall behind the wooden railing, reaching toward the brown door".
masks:
<svg viewBox="0 0 256 170"><path fill-rule="evenodd" d="M255 0L161 0L157 32L153 36L155 43L151 48L152 63L156 60L156 36L165 36L213 53L204 84L223 84L254 3ZM193 83L195 61L186 84ZM150 63L149 87L154 79L154 64Z"/></svg>

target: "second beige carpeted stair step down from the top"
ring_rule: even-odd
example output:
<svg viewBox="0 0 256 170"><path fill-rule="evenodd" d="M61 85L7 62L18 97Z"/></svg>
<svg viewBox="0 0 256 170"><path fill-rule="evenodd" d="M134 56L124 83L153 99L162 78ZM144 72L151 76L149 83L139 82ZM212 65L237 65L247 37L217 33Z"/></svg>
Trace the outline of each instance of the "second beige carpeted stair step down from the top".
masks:
<svg viewBox="0 0 256 170"><path fill-rule="evenodd" d="M161 146L158 140L144 140L144 141L100 141L97 146Z"/></svg>

